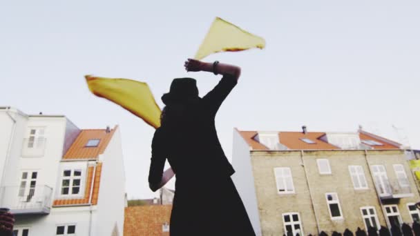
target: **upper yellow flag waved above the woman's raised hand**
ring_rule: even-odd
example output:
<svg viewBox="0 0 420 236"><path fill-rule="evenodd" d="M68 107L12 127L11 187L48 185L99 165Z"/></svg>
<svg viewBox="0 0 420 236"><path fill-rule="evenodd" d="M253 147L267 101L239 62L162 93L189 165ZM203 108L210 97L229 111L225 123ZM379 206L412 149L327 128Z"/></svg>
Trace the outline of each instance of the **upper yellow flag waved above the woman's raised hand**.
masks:
<svg viewBox="0 0 420 236"><path fill-rule="evenodd" d="M215 52L236 52L264 47L265 40L262 37L252 35L238 26L216 17L194 58L200 60Z"/></svg>

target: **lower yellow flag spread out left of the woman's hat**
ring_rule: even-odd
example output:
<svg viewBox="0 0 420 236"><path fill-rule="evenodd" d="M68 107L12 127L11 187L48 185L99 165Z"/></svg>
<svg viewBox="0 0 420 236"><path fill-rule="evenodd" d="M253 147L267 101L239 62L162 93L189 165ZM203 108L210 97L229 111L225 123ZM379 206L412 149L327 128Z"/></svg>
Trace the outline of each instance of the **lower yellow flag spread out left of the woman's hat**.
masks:
<svg viewBox="0 0 420 236"><path fill-rule="evenodd" d="M160 108L147 83L131 79L108 79L86 75L90 92L104 97L142 118L147 124L160 126Z"/></svg>

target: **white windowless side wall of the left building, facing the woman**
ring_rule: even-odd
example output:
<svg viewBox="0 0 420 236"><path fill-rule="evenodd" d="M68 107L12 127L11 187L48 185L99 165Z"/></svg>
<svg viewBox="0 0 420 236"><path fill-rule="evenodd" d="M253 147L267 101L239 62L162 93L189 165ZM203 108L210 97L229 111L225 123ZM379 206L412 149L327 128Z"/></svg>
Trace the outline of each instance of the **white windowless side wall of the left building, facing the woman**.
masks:
<svg viewBox="0 0 420 236"><path fill-rule="evenodd" d="M94 235L111 235L117 224L119 235L124 230L125 174L120 130L117 128L100 160L101 184L97 204Z"/></svg>

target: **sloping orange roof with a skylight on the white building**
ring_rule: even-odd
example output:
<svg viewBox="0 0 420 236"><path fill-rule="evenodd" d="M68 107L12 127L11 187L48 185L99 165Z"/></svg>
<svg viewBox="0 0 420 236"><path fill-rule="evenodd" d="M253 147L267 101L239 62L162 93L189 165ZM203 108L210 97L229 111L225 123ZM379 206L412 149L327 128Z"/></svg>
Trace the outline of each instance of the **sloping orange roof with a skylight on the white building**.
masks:
<svg viewBox="0 0 420 236"><path fill-rule="evenodd" d="M68 148L63 159L97 159L99 154L104 153L117 127L115 126L110 132L106 132L106 129L82 130L70 148ZM98 146L86 147L90 139L99 139Z"/></svg>

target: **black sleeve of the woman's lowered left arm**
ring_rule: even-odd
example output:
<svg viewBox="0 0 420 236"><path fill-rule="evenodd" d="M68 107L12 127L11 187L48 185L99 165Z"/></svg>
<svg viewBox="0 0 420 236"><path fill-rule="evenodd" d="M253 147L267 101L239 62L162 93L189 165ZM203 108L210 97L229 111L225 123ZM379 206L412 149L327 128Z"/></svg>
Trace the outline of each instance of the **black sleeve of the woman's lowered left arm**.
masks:
<svg viewBox="0 0 420 236"><path fill-rule="evenodd" d="M152 157L149 169L149 183L159 184L162 180L163 169L166 161L166 154L164 153L164 143L160 130L155 131L152 140Z"/></svg>

